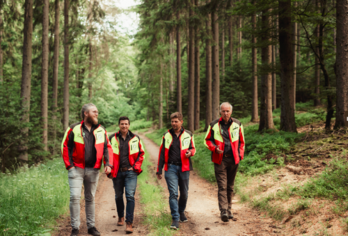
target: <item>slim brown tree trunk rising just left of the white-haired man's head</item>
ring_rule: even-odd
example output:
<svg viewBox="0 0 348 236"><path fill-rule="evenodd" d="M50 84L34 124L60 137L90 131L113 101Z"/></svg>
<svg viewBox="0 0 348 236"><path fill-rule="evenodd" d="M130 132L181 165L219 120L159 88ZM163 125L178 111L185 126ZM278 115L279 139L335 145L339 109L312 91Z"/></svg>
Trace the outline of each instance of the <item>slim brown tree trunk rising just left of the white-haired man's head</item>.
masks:
<svg viewBox="0 0 348 236"><path fill-rule="evenodd" d="M217 9L212 11L212 119L219 118L220 103L220 69L219 69L219 22Z"/></svg>

